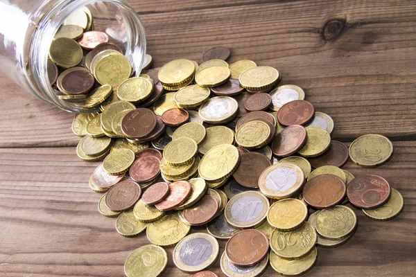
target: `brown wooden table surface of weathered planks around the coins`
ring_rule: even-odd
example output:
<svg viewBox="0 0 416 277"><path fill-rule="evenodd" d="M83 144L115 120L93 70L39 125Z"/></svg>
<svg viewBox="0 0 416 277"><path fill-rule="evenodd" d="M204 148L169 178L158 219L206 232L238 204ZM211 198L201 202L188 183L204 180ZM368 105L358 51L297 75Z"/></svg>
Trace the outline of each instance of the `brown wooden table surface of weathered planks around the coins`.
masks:
<svg viewBox="0 0 416 277"><path fill-rule="evenodd" d="M395 146L378 174L404 196L390 222L358 216L352 240L318 249L307 276L414 276L416 269L415 1L130 1L146 28L154 66L202 62L228 46L228 62L274 66L335 121L333 139L383 134ZM98 163L76 156L73 114L44 104L0 75L0 276L123 276L125 258L148 244L123 238L97 211L88 179ZM203 228L195 229L196 231ZM225 243L220 244L220 253ZM166 276L184 276L169 256ZM216 262L212 269L223 276ZM277 275L269 266L265 276Z"/></svg>

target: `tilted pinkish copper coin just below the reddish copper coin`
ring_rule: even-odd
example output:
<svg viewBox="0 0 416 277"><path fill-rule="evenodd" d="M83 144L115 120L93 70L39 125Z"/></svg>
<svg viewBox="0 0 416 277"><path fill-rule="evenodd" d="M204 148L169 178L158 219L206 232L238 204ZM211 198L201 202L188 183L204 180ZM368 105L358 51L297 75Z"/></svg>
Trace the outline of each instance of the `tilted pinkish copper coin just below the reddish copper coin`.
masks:
<svg viewBox="0 0 416 277"><path fill-rule="evenodd" d="M301 125L291 125L277 134L272 143L272 152L277 157L291 156L299 151L305 143L306 129Z"/></svg>

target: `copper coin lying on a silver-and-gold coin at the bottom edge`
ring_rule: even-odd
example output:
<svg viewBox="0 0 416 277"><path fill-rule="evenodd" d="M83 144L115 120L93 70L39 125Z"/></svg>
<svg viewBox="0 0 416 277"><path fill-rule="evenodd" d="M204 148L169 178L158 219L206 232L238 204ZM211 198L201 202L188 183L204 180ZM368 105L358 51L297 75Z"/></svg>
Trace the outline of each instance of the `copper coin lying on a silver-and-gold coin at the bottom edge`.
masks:
<svg viewBox="0 0 416 277"><path fill-rule="evenodd" d="M225 244L225 255L233 265L250 267L266 257L268 236L262 231L247 229L233 235Z"/></svg>

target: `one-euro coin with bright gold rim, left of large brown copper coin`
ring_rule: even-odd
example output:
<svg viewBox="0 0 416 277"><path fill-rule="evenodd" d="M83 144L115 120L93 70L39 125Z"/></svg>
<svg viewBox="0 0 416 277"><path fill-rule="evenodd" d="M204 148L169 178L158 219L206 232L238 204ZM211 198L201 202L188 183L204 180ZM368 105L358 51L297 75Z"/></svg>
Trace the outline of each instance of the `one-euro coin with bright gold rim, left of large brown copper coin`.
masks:
<svg viewBox="0 0 416 277"><path fill-rule="evenodd" d="M261 172L259 187L261 193L269 198L284 199L297 193L304 181L304 172L299 166L276 163Z"/></svg>

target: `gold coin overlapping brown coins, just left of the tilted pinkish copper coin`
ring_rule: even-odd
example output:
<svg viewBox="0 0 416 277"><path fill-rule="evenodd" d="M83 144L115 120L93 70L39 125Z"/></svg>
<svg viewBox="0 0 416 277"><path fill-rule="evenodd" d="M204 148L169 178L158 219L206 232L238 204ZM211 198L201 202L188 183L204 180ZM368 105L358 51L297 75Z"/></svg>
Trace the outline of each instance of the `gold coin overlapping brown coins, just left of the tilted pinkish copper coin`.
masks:
<svg viewBox="0 0 416 277"><path fill-rule="evenodd" d="M243 124L236 131L236 143L248 150L266 145L270 126L263 121L253 120Z"/></svg>

